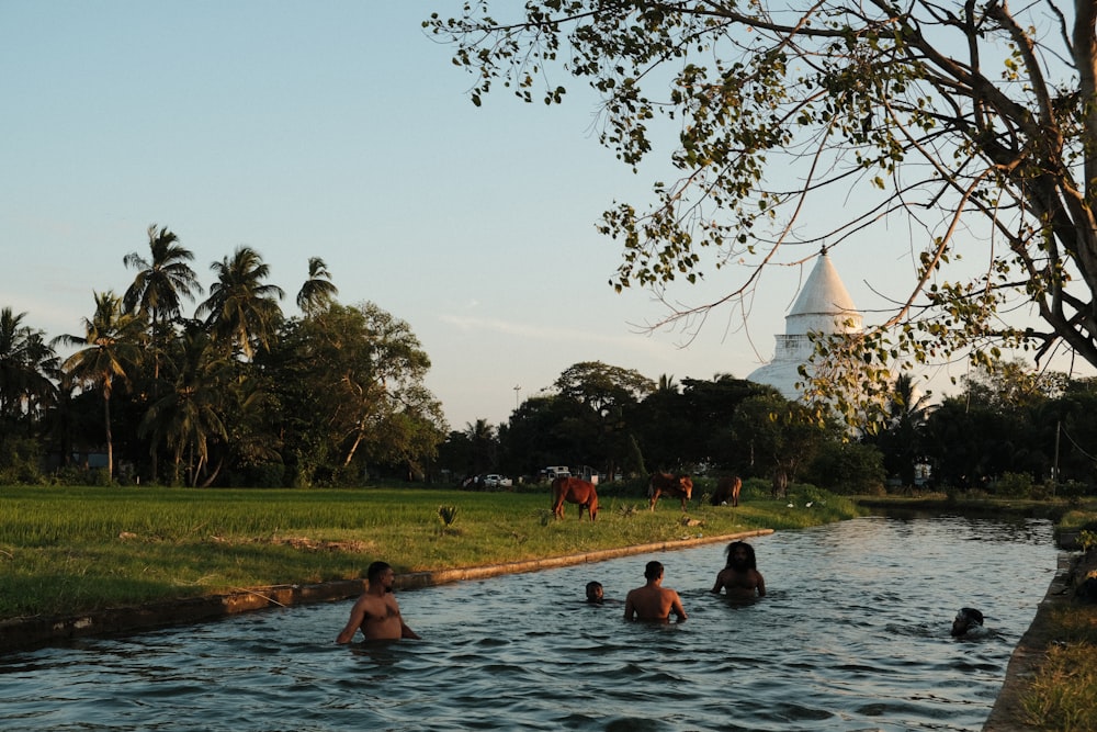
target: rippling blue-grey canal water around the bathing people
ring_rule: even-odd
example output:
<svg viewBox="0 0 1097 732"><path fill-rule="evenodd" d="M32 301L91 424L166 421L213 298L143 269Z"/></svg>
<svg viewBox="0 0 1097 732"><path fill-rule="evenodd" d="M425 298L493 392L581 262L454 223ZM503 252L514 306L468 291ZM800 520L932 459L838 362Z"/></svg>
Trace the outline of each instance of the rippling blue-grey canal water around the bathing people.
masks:
<svg viewBox="0 0 1097 732"><path fill-rule="evenodd" d="M1051 523L864 518L750 540L769 595L711 595L723 544L398 595L423 641L336 645L351 601L0 657L3 730L980 730L1054 575ZM608 598L666 565L689 620ZM949 635L962 606L977 640Z"/></svg>

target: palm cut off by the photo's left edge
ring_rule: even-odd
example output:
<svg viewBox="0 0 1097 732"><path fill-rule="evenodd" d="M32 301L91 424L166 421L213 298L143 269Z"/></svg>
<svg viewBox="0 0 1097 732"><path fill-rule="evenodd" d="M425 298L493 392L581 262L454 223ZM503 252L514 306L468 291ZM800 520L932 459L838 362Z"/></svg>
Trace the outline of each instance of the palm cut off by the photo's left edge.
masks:
<svg viewBox="0 0 1097 732"><path fill-rule="evenodd" d="M23 325L26 313L0 311L0 424L7 431L22 418L33 420L54 401L59 376L57 353L41 330Z"/></svg>

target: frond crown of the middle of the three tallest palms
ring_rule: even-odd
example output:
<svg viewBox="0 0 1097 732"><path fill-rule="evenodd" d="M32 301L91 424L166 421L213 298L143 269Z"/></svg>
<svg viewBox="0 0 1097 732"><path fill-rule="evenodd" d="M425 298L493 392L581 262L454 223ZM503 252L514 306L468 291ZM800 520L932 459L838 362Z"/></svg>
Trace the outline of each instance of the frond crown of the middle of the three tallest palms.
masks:
<svg viewBox="0 0 1097 732"><path fill-rule="evenodd" d="M247 357L256 346L270 350L282 309L278 301L285 296L282 288L264 284L270 267L251 247L237 247L231 259L225 257L211 267L217 282L210 286L210 297L199 305L197 315L206 317L206 326L215 340L222 340Z"/></svg>

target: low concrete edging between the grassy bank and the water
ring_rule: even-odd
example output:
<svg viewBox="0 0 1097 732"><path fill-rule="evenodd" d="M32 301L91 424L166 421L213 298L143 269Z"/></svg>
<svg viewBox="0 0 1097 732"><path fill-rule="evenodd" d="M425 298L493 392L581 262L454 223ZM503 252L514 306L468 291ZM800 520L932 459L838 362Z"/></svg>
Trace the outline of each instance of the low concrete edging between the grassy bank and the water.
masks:
<svg viewBox="0 0 1097 732"><path fill-rule="evenodd" d="M536 572L575 564L603 562L633 554L675 551L701 544L759 537L772 532L772 529L760 529L735 534L697 537L635 547L604 549L583 554L569 554L567 556L553 556L524 562L508 562L460 570L439 570L436 572L414 572L397 576L395 586L397 589L430 587L465 579L483 579L504 574ZM106 608L72 616L16 618L0 622L0 653L64 643L84 637L121 635L155 628L205 622L240 612L250 612L273 607L343 600L360 595L365 590L365 579L342 579L313 585L274 585L271 587L239 589L223 595L154 603L139 607Z"/></svg>

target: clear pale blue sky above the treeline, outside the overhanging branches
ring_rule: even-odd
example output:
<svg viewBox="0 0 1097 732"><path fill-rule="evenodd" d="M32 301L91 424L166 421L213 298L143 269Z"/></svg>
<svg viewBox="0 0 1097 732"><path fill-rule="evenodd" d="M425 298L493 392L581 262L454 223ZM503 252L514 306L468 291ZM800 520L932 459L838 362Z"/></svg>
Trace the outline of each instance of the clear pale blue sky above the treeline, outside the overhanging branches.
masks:
<svg viewBox="0 0 1097 732"><path fill-rule="evenodd" d="M746 326L726 311L692 339L651 331L664 306L613 291L620 245L596 224L651 201L655 178L599 145L597 99L574 80L562 106L502 89L474 106L472 77L421 27L460 5L0 0L0 307L81 333L157 224L205 288L211 263L255 248L287 315L323 258L341 303L409 324L453 429L506 421L580 361L680 382L772 358L811 262L768 271ZM911 272L856 248L832 260L862 309Z"/></svg>

